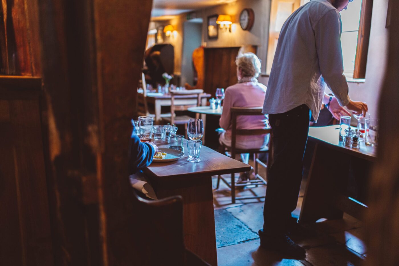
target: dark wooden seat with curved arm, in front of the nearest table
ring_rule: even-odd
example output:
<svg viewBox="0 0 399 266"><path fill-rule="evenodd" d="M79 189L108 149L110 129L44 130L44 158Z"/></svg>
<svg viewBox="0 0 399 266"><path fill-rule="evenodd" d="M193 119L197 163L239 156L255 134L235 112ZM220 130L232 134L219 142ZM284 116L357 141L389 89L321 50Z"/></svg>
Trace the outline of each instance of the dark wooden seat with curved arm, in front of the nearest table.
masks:
<svg viewBox="0 0 399 266"><path fill-rule="evenodd" d="M134 241L140 247L142 258L146 258L145 265L209 266L184 247L181 196L147 200L135 189L132 192L137 214L134 226L138 227Z"/></svg>

